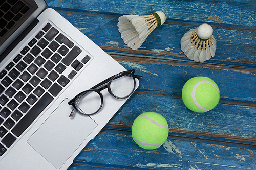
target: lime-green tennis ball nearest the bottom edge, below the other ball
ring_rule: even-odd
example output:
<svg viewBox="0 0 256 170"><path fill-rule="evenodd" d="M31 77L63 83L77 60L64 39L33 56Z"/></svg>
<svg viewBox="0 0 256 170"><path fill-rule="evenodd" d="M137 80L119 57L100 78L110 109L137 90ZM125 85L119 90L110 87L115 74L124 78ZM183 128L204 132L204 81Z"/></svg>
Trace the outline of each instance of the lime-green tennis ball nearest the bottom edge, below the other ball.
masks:
<svg viewBox="0 0 256 170"><path fill-rule="evenodd" d="M145 112L139 115L132 126L133 140L144 149L160 147L169 134L166 119L158 113Z"/></svg>

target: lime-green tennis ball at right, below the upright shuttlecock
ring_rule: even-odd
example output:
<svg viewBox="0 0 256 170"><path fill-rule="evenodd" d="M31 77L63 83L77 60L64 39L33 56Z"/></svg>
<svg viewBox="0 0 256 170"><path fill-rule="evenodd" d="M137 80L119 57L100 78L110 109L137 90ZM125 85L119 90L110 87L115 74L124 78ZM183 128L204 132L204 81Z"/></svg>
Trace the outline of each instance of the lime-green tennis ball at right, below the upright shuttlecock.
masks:
<svg viewBox="0 0 256 170"><path fill-rule="evenodd" d="M220 100L218 85L208 77L189 79L182 88L182 100L194 112L207 112Z"/></svg>

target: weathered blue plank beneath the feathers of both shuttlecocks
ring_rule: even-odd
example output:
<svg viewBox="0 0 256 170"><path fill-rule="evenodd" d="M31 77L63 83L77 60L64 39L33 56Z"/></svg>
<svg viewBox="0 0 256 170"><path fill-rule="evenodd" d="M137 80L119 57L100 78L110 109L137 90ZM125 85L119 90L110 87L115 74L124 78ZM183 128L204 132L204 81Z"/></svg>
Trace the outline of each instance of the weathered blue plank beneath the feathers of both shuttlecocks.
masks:
<svg viewBox="0 0 256 170"><path fill-rule="evenodd" d="M129 54L138 57L185 61L195 64L194 61L189 60L184 55L180 48L182 36L189 29L196 28L195 26L165 23L163 26L156 28L147 37L139 50L134 51L128 48L120 37L117 16L70 12L60 12L60 14L110 54ZM256 38L254 38L256 32L232 30L231 28L231 26L228 29L214 28L214 35L217 39L216 55L200 64L209 63L255 70L256 48L253 44L256 44Z"/></svg>

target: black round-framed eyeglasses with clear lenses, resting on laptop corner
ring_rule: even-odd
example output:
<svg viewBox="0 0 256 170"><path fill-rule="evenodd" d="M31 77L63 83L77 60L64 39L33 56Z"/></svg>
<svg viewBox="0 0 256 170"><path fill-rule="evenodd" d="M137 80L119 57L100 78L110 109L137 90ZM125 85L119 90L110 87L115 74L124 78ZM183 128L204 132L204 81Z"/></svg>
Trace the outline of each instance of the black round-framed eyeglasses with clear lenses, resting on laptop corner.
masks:
<svg viewBox="0 0 256 170"><path fill-rule="evenodd" d="M134 73L134 69L120 72L89 90L77 94L75 98L68 102L69 105L74 107L69 117L73 118L75 111L82 115L93 115L99 112L103 105L101 91L106 88L117 99L126 99L131 96L136 87L135 78L142 78L142 76L134 75Z"/></svg>

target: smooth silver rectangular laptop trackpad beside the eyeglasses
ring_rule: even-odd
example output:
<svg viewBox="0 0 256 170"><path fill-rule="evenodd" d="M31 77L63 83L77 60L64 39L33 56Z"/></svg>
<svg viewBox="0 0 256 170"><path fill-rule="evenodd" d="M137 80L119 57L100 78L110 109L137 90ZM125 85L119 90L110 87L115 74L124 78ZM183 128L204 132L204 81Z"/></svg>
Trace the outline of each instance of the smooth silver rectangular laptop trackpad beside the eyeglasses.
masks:
<svg viewBox="0 0 256 170"><path fill-rule="evenodd" d="M72 107L68 102L69 99L65 99L28 140L31 147L57 169L97 126L88 116L76 114L71 119Z"/></svg>

